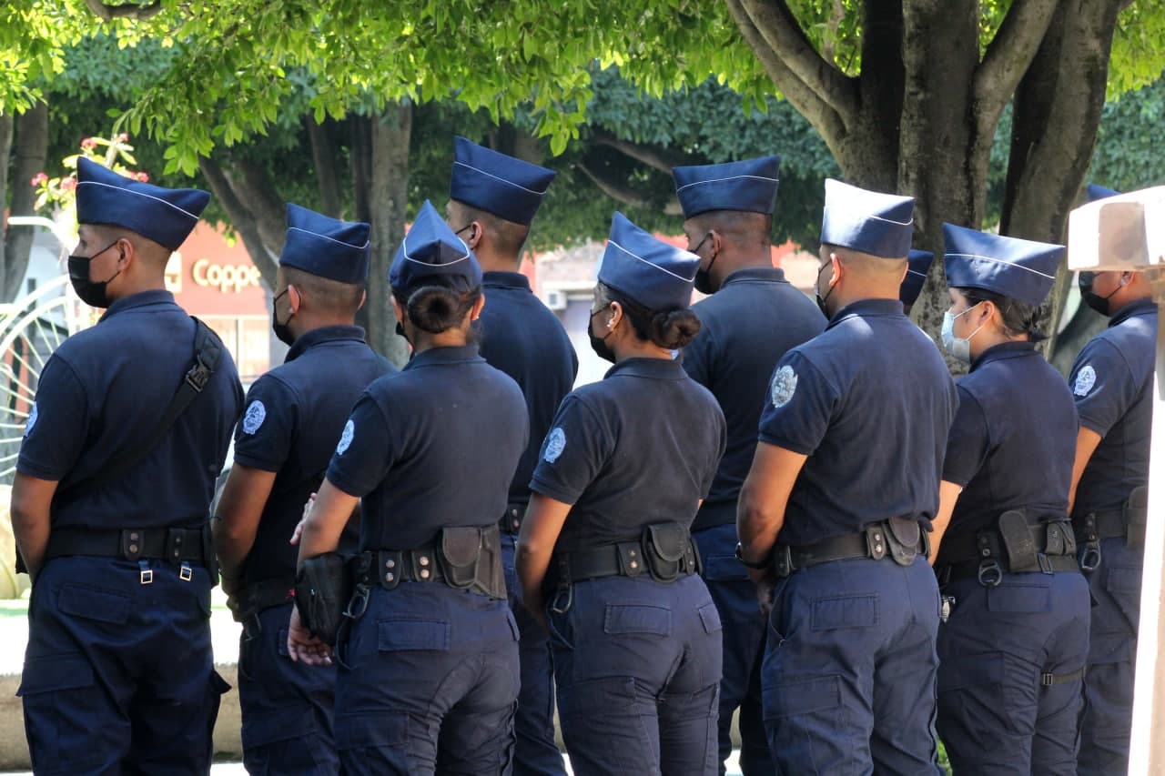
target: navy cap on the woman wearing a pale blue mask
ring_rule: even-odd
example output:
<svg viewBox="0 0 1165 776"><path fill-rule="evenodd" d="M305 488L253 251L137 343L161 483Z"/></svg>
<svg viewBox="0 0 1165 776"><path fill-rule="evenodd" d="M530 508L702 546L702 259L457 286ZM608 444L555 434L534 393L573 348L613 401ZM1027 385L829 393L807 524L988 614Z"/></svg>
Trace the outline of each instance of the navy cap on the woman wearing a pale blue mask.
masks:
<svg viewBox="0 0 1165 776"><path fill-rule="evenodd" d="M1003 296L1040 305L1055 282L1055 268L1064 259L1064 246L1032 242L942 225L947 284L951 288L981 288Z"/></svg>

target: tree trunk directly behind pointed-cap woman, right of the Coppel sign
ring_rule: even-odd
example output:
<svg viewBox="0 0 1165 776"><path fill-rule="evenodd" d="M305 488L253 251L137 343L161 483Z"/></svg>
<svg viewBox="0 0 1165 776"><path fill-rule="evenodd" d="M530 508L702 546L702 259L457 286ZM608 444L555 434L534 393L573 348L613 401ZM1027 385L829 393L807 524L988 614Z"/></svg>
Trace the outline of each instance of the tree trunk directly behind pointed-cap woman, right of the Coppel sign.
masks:
<svg viewBox="0 0 1165 776"><path fill-rule="evenodd" d="M409 139L412 104L388 105L372 120L372 165L368 206L372 213L372 267L368 273L368 343L396 364L409 358L408 344L396 336L388 269L404 238L409 203Z"/></svg>

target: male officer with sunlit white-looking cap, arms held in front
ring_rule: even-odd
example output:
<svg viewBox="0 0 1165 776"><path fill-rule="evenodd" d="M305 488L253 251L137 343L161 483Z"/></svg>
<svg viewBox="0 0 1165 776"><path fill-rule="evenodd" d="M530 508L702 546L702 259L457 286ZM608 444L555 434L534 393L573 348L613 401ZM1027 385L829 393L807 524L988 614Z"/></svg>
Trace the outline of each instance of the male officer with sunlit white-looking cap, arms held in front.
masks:
<svg viewBox="0 0 1165 776"><path fill-rule="evenodd" d="M956 397L902 313L913 205L826 181L829 324L777 365L740 495L737 553L771 595L762 686L781 773L939 773L924 535Z"/></svg>

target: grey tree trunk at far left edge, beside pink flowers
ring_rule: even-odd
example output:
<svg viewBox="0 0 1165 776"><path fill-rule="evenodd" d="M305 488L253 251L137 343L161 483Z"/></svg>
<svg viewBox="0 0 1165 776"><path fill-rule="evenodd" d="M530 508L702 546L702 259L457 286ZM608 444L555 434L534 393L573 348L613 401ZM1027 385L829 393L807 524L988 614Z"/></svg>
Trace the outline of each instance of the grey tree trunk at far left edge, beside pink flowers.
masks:
<svg viewBox="0 0 1165 776"><path fill-rule="evenodd" d="M35 216L36 190L29 185L37 172L44 171L49 150L49 106L37 103L16 118L16 137L13 147L10 212L13 216ZM3 158L3 156L0 156ZM3 202L0 198L0 202ZM0 299L12 302L24 292L21 282L28 271L35 231L17 226L8 231L3 245L3 289Z"/></svg>

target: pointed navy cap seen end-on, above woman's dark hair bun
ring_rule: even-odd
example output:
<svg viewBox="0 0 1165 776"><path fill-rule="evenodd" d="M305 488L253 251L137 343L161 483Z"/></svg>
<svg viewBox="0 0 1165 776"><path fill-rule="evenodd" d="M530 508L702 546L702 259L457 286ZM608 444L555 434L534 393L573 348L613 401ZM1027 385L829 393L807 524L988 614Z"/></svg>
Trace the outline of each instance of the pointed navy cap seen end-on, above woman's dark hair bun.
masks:
<svg viewBox="0 0 1165 776"><path fill-rule="evenodd" d="M425 199L412 227L401 241L388 270L388 284L409 289L425 278L444 276L463 291L481 285L481 264L453 233L432 203Z"/></svg>

